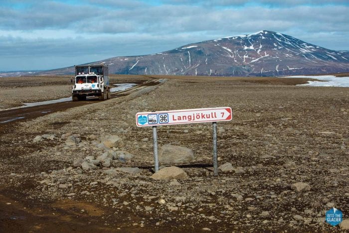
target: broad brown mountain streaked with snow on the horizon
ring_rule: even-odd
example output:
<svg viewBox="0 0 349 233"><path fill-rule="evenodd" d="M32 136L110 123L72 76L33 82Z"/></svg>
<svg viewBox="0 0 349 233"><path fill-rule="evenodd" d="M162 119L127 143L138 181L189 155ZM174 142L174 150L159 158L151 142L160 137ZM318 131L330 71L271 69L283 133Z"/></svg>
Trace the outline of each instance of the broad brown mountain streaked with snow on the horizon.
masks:
<svg viewBox="0 0 349 233"><path fill-rule="evenodd" d="M349 51L335 51L274 31L187 44L166 52L94 63L114 74L278 76L349 71ZM73 73L73 67L39 74Z"/></svg>

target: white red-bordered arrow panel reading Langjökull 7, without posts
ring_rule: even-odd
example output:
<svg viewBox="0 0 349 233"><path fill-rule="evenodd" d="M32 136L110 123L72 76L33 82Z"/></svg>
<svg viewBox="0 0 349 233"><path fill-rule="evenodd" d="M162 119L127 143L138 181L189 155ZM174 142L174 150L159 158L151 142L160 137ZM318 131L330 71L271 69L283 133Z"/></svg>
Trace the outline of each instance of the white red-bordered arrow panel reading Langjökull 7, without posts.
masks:
<svg viewBox="0 0 349 233"><path fill-rule="evenodd" d="M231 121L233 118L230 107L182 109L160 112L139 112L136 114L138 127L158 125L178 125Z"/></svg>

